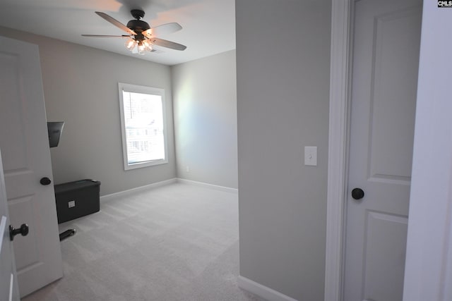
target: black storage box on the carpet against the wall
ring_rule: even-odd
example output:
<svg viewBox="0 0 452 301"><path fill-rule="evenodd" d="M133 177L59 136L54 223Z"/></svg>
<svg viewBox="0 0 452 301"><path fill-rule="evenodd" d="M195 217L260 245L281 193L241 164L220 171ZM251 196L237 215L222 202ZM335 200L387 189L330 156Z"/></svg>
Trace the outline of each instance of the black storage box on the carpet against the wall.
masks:
<svg viewBox="0 0 452 301"><path fill-rule="evenodd" d="M58 223L100 210L100 182L90 179L55 185Z"/></svg>

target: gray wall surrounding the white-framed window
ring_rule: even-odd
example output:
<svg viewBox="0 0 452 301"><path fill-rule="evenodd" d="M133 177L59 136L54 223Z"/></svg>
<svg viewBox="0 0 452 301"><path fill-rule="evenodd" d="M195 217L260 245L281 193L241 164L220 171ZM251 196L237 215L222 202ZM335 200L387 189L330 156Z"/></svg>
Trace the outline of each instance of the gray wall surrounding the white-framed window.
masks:
<svg viewBox="0 0 452 301"><path fill-rule="evenodd" d="M169 66L4 27L0 35L39 46L47 121L65 121L51 149L54 183L94 178L108 195L176 177ZM168 164L124 171L118 82L165 89Z"/></svg>

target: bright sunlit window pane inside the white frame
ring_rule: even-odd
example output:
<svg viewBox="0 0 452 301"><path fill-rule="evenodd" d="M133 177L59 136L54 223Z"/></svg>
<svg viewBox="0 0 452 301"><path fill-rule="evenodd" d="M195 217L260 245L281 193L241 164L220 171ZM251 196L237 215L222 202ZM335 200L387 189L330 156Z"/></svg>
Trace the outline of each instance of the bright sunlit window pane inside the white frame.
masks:
<svg viewBox="0 0 452 301"><path fill-rule="evenodd" d="M162 97L123 91L127 163L165 160Z"/></svg>

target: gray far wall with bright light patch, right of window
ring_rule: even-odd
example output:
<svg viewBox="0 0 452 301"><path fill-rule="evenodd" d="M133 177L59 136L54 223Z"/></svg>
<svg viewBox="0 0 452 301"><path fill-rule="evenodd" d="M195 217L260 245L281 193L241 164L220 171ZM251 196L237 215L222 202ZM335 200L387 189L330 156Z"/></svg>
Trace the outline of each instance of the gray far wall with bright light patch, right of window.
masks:
<svg viewBox="0 0 452 301"><path fill-rule="evenodd" d="M172 90L177 176L237 188L235 51L173 66Z"/></svg>

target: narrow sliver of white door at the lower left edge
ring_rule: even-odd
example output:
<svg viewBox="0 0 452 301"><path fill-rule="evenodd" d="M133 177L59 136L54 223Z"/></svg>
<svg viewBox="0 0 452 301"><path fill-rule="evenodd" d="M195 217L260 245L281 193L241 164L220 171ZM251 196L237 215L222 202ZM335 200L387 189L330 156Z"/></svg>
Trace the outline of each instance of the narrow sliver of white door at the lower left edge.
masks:
<svg viewBox="0 0 452 301"><path fill-rule="evenodd" d="M19 300L14 250L9 238L9 214L0 153L0 300Z"/></svg>

